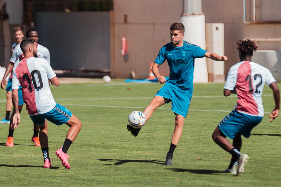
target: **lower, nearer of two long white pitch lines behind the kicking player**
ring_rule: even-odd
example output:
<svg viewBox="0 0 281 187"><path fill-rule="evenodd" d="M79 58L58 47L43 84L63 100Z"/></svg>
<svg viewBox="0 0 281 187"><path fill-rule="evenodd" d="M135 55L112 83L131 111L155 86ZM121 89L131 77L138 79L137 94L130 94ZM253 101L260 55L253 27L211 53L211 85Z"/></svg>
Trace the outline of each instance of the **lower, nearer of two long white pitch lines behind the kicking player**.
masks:
<svg viewBox="0 0 281 187"><path fill-rule="evenodd" d="M60 104L65 106L81 106L81 107L107 107L107 108L140 108L145 107L126 107L126 106L112 106L112 105L81 105L81 104ZM170 108L157 108L159 110L171 110ZM231 112L232 110L199 110L199 109L189 109L188 111L199 111L199 112ZM264 114L271 114L271 112L264 112ZM279 113L281 114L281 113Z"/></svg>

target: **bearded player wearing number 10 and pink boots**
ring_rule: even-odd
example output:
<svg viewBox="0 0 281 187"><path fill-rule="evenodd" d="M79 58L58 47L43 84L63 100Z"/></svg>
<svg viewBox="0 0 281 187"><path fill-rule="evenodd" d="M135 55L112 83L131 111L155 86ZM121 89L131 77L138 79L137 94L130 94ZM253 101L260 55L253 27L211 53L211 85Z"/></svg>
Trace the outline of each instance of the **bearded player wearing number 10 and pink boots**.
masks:
<svg viewBox="0 0 281 187"><path fill-rule="evenodd" d="M60 80L56 77L46 59L36 58L37 42L29 38L22 40L21 49L24 52L24 59L19 64L15 64L13 71L12 100L15 114L13 116L12 128L17 128L21 119L18 90L22 86L22 96L26 104L26 110L31 120L40 126L40 144L44 157L44 168L51 167L46 119L56 125L65 123L70 127L63 146L56 151L56 155L62 161L62 165L69 169L69 156L66 153L78 135L82 124L71 111L55 102L48 80L55 86L60 85Z"/></svg>

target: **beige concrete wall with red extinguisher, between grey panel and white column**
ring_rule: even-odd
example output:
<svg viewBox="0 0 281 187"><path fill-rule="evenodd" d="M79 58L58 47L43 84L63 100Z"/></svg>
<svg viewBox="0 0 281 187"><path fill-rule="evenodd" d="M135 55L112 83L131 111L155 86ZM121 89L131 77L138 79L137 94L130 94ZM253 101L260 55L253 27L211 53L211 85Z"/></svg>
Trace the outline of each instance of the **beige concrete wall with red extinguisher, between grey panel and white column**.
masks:
<svg viewBox="0 0 281 187"><path fill-rule="evenodd" d="M124 23L124 15L127 23ZM170 42L170 25L182 14L182 0L114 0L111 12L111 71L115 78L146 78L150 62L160 48ZM121 55L121 37L125 34L129 60ZM160 74L169 76L167 63L159 67Z"/></svg>

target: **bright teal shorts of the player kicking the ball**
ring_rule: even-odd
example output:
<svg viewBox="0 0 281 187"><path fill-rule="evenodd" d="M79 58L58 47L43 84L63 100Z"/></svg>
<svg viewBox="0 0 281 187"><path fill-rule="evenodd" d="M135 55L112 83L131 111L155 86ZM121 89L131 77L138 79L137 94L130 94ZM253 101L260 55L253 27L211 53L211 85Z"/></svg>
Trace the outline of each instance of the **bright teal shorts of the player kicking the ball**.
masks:
<svg viewBox="0 0 281 187"><path fill-rule="evenodd" d="M185 93L179 89L171 87L169 84L164 84L164 86L155 94L155 96L161 96L163 98L169 99L166 103L172 102L171 110L184 118L187 115L189 105L191 102L191 94Z"/></svg>

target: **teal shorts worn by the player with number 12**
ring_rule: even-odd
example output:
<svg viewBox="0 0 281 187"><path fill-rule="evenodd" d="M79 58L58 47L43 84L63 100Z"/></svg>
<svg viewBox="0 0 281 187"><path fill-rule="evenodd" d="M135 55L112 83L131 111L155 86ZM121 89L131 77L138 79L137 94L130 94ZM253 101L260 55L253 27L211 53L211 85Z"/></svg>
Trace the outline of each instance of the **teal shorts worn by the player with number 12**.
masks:
<svg viewBox="0 0 281 187"><path fill-rule="evenodd" d="M219 130L221 130L228 138L235 138L240 132L245 138L249 138L251 130L262 121L260 116L250 116L232 110L230 114L218 124Z"/></svg>

